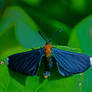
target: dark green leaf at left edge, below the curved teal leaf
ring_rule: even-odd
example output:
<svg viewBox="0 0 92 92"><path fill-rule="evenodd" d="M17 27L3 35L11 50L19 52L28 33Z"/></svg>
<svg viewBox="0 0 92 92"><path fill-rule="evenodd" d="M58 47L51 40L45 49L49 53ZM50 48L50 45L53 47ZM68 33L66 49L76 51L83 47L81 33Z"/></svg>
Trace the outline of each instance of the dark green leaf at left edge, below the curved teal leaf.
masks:
<svg viewBox="0 0 92 92"><path fill-rule="evenodd" d="M14 25L9 25L9 27L0 32L0 57L16 49L23 49L23 47L16 38Z"/></svg>

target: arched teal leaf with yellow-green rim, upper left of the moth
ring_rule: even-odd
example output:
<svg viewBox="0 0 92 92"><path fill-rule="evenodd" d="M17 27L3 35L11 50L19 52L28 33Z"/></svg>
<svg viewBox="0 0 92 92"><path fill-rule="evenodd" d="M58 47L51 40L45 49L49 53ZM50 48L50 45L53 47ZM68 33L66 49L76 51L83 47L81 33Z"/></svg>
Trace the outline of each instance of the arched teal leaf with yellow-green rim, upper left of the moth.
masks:
<svg viewBox="0 0 92 92"><path fill-rule="evenodd" d="M7 16L6 16L7 15ZM44 46L45 41L38 34L38 27L21 8L9 7L4 12L0 22L0 31L3 32L10 25L14 25L17 40L24 48ZM7 33L6 33L7 34ZM4 36L4 35L3 35ZM12 36L12 34L10 35Z"/></svg>

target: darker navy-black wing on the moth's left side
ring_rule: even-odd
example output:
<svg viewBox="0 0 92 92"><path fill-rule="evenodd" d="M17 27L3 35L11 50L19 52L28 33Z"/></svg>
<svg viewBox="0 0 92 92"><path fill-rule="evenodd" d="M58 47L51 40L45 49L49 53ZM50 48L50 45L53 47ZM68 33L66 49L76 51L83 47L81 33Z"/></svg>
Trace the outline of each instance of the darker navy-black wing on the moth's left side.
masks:
<svg viewBox="0 0 92 92"><path fill-rule="evenodd" d="M9 68L16 72L21 72L27 75L36 75L41 63L44 48L31 50L19 54L9 56Z"/></svg>

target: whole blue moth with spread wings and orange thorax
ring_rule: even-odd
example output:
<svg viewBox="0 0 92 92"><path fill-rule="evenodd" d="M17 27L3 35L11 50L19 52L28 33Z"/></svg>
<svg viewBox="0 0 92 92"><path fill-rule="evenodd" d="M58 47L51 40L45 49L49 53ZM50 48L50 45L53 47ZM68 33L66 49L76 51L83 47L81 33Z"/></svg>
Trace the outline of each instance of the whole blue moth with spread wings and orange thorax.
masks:
<svg viewBox="0 0 92 92"><path fill-rule="evenodd" d="M63 29L57 31L49 41L41 32L39 32L42 38L46 41L45 46L43 48L33 49L31 51L9 56L8 67L16 72L34 76L39 70L43 55L45 55L46 69L43 76L44 78L48 78L50 76L50 69L53 67L53 55L56 60L58 71L62 76L71 76L86 71L91 66L91 57L51 46L51 41L61 31L63 31Z"/></svg>

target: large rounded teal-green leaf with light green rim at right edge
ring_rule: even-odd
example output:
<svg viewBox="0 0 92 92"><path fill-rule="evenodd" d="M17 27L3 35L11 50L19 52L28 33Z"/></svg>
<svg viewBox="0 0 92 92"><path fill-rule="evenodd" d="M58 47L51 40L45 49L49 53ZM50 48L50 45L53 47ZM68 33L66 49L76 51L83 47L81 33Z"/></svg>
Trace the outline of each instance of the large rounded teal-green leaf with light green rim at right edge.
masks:
<svg viewBox="0 0 92 92"><path fill-rule="evenodd" d="M80 48L84 54L92 56L92 16L85 18L75 26L69 46Z"/></svg>

